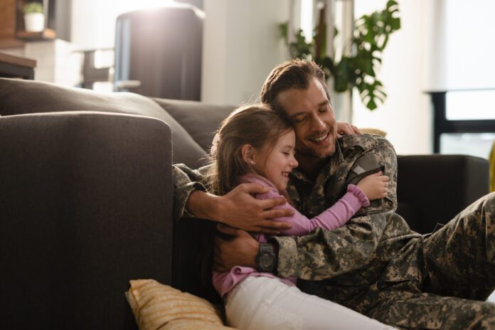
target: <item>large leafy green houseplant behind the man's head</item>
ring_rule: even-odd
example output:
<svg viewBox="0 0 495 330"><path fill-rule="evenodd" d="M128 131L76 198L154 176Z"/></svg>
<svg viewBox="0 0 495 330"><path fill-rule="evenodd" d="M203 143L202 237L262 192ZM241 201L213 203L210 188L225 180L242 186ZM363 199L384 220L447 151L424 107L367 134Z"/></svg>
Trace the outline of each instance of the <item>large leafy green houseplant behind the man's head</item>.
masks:
<svg viewBox="0 0 495 330"><path fill-rule="evenodd" d="M382 62L381 56L391 33L400 28L397 1L387 2L383 11L375 11L363 15L354 21L353 36L344 46L346 53L340 59L335 55L326 55L326 23L320 20L314 29L312 41L307 42L301 29L295 34L294 41L289 43L287 23L281 23L280 35L289 47L292 58L314 60L326 71L327 79L334 78L334 90L346 92L356 87L361 100L369 110L375 110L378 102L384 102L387 96L383 83L376 73ZM339 33L334 28L334 36Z"/></svg>

